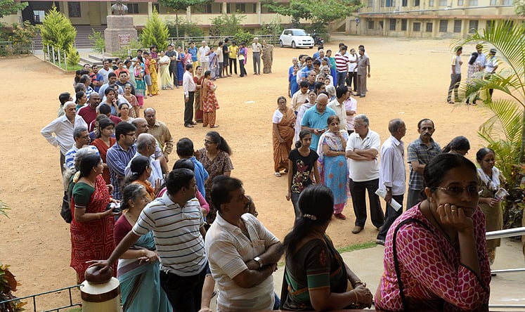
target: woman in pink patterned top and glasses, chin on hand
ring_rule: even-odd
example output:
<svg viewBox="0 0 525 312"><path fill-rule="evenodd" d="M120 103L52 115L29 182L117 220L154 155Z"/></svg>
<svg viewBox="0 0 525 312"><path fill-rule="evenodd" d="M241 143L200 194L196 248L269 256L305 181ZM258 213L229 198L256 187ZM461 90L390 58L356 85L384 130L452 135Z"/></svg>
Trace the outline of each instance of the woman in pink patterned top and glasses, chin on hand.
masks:
<svg viewBox="0 0 525 312"><path fill-rule="evenodd" d="M423 180L427 198L387 234L375 307L488 311L491 268L476 167L461 155L440 154L424 168Z"/></svg>

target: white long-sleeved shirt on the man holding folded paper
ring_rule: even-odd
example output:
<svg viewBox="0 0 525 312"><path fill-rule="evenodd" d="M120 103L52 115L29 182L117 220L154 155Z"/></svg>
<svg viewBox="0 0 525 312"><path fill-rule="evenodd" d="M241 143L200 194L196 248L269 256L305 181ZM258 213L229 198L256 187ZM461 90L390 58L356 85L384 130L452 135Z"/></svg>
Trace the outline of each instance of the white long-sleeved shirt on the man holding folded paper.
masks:
<svg viewBox="0 0 525 312"><path fill-rule="evenodd" d="M405 145L394 136L390 136L381 147L379 188L392 188L392 195L405 193Z"/></svg>

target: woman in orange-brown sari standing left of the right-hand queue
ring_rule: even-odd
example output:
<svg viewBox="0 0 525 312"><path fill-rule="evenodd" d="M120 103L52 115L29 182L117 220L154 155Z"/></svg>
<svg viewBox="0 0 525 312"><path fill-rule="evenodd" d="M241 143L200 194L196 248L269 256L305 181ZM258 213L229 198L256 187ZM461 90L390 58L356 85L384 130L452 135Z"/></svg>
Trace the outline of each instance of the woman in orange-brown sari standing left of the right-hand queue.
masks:
<svg viewBox="0 0 525 312"><path fill-rule="evenodd" d="M275 176L280 177L280 170L288 172L290 169L287 157L292 150L295 134L295 113L286 106L284 96L277 98L277 110L273 112L272 124L273 171Z"/></svg>

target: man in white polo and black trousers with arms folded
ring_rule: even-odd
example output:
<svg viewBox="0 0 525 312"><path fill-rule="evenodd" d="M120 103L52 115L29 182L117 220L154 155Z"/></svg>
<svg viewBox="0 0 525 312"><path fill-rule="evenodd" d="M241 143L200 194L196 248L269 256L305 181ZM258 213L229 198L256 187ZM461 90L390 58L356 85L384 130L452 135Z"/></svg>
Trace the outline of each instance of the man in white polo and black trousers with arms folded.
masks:
<svg viewBox="0 0 525 312"><path fill-rule="evenodd" d="M364 114L354 117L354 130L346 142L346 157L349 158L349 186L356 214L352 233L357 234L363 230L366 222L365 191L368 190L370 219L377 229L384 223L384 214L379 197L375 194L379 186L377 154L381 146L380 136L370 130L368 117Z"/></svg>

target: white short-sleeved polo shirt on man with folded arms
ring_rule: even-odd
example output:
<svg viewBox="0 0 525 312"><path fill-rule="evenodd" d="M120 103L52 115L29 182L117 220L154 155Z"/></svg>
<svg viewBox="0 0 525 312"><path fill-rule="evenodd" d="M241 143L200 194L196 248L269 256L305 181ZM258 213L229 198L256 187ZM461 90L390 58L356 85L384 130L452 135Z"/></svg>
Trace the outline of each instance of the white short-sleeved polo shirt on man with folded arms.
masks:
<svg viewBox="0 0 525 312"><path fill-rule="evenodd" d="M377 152L379 152L381 148L379 134L370 129L368 129L368 134L366 134L365 138L362 139L359 134L354 132L348 137L348 141L346 141L347 151L354 151L356 149L367 150L369 148L373 148L377 150ZM351 158L349 158L349 160L348 169L352 181L364 182L379 178L379 162L377 161L377 157L375 160L352 160Z"/></svg>

